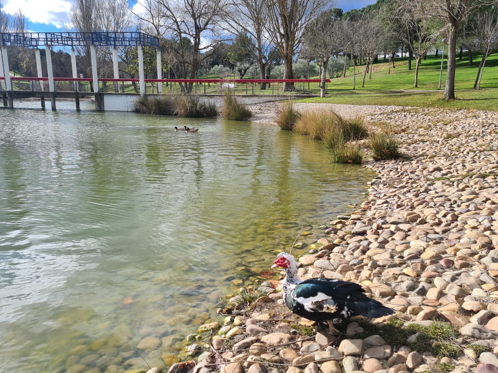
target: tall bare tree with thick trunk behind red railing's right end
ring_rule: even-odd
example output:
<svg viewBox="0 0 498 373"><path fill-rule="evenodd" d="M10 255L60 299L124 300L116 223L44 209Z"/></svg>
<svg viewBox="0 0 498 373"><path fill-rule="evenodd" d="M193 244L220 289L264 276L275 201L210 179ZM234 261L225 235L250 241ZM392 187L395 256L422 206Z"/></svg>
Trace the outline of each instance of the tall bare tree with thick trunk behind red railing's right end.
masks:
<svg viewBox="0 0 498 373"><path fill-rule="evenodd" d="M266 0L266 31L283 60L284 79L293 79L292 62L309 23L322 11L335 5L331 0ZM284 91L293 91L293 83L284 83Z"/></svg>

